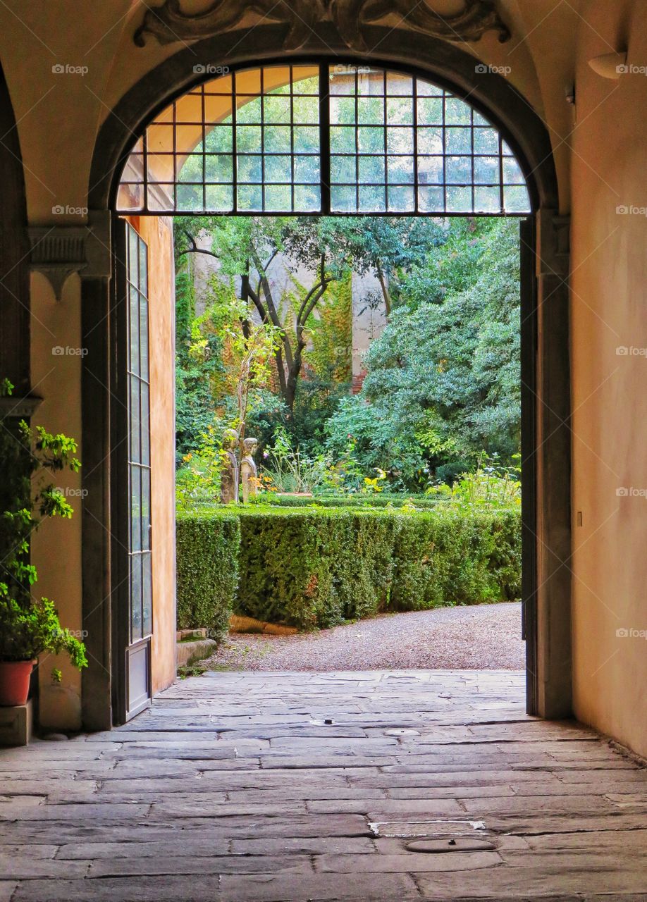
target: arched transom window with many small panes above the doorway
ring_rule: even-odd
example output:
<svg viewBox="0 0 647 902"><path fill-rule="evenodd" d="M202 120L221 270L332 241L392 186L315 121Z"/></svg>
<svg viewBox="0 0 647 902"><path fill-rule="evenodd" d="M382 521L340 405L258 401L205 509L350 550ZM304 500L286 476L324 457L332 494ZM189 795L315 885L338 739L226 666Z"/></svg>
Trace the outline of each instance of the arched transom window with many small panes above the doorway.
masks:
<svg viewBox="0 0 647 902"><path fill-rule="evenodd" d="M402 72L263 66L194 87L125 164L122 213L524 215L522 170L464 100Z"/></svg>

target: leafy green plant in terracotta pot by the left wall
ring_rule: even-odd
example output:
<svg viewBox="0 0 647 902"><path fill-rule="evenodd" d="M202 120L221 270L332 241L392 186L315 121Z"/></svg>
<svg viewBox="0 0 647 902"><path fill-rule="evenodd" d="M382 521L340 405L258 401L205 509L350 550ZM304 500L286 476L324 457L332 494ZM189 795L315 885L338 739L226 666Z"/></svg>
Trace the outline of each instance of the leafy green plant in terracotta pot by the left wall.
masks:
<svg viewBox="0 0 647 902"><path fill-rule="evenodd" d="M11 382L0 382L9 395ZM36 569L29 562L29 538L43 519L71 517L73 509L51 483L55 472L79 471L73 438L31 428L21 419L0 419L0 705L24 704L32 667L42 652L67 652L86 667L85 647L60 625L54 604L32 595ZM57 670L52 676L60 678Z"/></svg>

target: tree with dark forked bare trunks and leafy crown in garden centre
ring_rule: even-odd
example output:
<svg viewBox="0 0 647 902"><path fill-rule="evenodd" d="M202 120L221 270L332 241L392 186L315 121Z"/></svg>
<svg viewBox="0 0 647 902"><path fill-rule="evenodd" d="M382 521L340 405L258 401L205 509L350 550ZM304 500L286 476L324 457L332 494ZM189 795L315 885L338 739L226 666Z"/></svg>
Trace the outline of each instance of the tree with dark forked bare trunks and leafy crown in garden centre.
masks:
<svg viewBox="0 0 647 902"><path fill-rule="evenodd" d="M421 262L441 235L430 220L344 216L193 216L180 219L179 231L180 256L205 253L216 258L220 273L236 277L241 299L251 303L261 322L278 330L277 378L290 411L303 371L311 318L332 283L351 272L374 271L389 310L390 281L401 268ZM208 249L198 243L199 235L205 233L210 238ZM304 267L311 276L309 285L297 286L287 307L274 296L270 278L279 254L288 265Z"/></svg>

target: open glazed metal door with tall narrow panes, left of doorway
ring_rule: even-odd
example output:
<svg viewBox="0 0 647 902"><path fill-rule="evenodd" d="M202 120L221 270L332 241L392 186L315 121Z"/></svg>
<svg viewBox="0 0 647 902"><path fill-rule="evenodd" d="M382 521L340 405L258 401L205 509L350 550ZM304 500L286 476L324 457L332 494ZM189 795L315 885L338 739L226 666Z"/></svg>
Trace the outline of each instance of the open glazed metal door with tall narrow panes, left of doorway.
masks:
<svg viewBox="0 0 647 902"><path fill-rule="evenodd" d="M130 223L120 233L116 266L116 448L114 605L116 723L151 704L153 574L151 545L151 428L148 248ZM127 551L127 553L126 553Z"/></svg>

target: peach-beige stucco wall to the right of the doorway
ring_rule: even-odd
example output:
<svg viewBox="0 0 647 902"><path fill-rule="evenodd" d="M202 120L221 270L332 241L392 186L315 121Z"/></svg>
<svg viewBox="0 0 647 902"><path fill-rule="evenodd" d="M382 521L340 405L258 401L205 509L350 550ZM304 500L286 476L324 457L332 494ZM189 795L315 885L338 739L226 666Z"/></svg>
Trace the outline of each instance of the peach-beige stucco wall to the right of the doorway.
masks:
<svg viewBox="0 0 647 902"><path fill-rule="evenodd" d="M579 29L571 566L576 713L647 756L647 29L640 7L591 3ZM600 78L587 60L623 50L628 33L628 62L642 73ZM632 205L642 214L616 212ZM630 353L618 354L624 347ZM642 494L623 497L621 489ZM642 638L617 630L642 630Z"/></svg>

